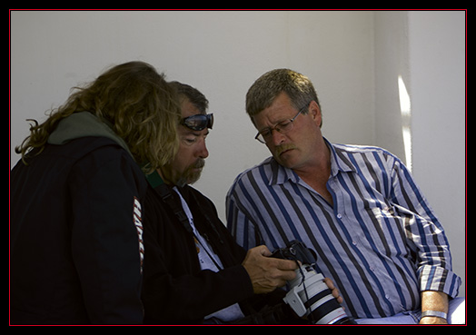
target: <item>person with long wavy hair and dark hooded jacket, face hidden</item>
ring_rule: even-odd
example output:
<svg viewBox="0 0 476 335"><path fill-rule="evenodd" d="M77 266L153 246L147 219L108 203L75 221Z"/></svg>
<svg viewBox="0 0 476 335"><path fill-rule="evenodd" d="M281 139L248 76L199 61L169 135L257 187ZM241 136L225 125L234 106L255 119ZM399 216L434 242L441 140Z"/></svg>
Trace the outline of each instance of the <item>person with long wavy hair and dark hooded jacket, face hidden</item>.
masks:
<svg viewBox="0 0 476 335"><path fill-rule="evenodd" d="M178 149L180 105L153 66L111 67L16 148L11 324L137 324L144 172Z"/></svg>

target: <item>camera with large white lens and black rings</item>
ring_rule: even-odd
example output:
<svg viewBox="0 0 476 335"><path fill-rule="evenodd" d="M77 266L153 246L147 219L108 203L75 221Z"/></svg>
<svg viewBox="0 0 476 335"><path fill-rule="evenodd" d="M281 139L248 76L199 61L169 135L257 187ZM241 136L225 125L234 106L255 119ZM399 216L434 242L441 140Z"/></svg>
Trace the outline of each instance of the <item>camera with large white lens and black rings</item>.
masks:
<svg viewBox="0 0 476 335"><path fill-rule="evenodd" d="M288 281L290 290L283 298L299 317L305 315L315 324L356 324L332 296L322 273L312 267L317 257L304 243L290 241L286 248L273 251L271 257L302 263L296 270L296 278Z"/></svg>

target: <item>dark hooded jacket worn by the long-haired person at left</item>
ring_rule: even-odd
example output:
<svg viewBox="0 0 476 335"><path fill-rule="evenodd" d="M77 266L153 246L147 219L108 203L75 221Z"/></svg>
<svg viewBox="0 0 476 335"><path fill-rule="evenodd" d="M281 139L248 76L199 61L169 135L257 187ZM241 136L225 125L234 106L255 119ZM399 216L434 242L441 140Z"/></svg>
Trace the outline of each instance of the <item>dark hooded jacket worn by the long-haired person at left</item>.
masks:
<svg viewBox="0 0 476 335"><path fill-rule="evenodd" d="M11 324L135 324L147 183L122 145L47 144L11 172Z"/></svg>

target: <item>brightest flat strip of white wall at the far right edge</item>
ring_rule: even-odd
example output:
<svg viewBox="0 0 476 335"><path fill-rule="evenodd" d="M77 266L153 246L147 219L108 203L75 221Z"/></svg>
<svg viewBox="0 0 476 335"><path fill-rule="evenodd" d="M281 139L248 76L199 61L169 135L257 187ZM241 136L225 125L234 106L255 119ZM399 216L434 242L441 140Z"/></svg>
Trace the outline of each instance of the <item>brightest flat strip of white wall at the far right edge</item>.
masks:
<svg viewBox="0 0 476 335"><path fill-rule="evenodd" d="M413 175L446 230L453 270L461 276L466 215L464 32L463 12L409 15Z"/></svg>

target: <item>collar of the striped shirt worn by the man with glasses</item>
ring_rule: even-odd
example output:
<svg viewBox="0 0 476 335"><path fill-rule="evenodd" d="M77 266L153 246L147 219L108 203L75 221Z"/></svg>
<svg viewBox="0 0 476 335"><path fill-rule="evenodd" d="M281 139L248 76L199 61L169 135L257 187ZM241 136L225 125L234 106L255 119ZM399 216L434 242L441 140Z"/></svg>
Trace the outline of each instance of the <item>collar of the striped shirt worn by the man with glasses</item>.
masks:
<svg viewBox="0 0 476 335"><path fill-rule="evenodd" d="M338 172L356 172L353 164L345 158L342 154L342 149L336 148L324 138L324 142L331 151L331 175L332 177L337 175ZM299 182L300 178L293 169L288 169L277 163L276 160L271 157L271 176L269 178L269 185L280 185L284 182Z"/></svg>

